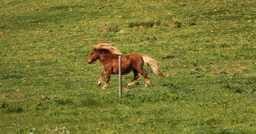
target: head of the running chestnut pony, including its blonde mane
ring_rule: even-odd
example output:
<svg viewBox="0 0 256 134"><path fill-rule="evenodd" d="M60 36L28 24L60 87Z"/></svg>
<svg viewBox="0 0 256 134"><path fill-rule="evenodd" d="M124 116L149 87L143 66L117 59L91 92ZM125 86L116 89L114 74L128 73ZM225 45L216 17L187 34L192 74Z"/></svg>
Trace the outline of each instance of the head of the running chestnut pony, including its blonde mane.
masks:
<svg viewBox="0 0 256 134"><path fill-rule="evenodd" d="M112 55L121 55L122 53L119 52L116 47L110 46L110 44L98 44L93 47L93 50L87 60L89 64L94 63L96 60L99 59L99 55L104 53L112 54Z"/></svg>

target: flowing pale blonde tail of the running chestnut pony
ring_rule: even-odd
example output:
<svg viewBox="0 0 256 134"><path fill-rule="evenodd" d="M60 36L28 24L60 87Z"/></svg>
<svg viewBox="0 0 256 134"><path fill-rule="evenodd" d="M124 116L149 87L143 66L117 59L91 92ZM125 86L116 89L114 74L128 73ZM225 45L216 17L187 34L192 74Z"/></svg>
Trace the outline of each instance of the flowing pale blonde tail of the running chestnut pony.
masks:
<svg viewBox="0 0 256 134"><path fill-rule="evenodd" d="M147 63L147 65L150 66L150 68L152 68L152 70L154 71L155 74L157 74L158 76L161 76L161 77L165 77L166 74L162 73L158 66L157 66L157 61L150 58L149 56L147 55L142 55L142 58L143 58L143 61L144 63Z"/></svg>

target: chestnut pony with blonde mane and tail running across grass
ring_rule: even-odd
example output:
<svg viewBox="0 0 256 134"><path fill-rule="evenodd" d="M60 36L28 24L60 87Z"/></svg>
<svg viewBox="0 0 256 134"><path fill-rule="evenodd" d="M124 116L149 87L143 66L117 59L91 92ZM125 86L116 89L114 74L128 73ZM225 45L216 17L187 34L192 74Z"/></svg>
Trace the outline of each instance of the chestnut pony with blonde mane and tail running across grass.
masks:
<svg viewBox="0 0 256 134"><path fill-rule="evenodd" d="M106 75L106 83L102 89L107 88L111 74L118 74L119 55L122 55L122 53L119 52L115 47L110 46L109 44L98 44L93 47L93 50L87 62L91 64L99 59L100 62L103 64L105 71L100 74L98 80L98 85L100 85L102 83L102 76ZM128 85L133 85L136 82L136 80L139 78L139 73L143 75L146 80L145 86L147 87L150 84L147 73L143 71L144 63L147 63L152 68L154 73L156 73L158 76L166 76L166 74L161 73L161 71L158 69L156 60L150 58L147 55L122 55L121 62L122 74L128 74L131 71L133 71L134 73L134 79Z"/></svg>

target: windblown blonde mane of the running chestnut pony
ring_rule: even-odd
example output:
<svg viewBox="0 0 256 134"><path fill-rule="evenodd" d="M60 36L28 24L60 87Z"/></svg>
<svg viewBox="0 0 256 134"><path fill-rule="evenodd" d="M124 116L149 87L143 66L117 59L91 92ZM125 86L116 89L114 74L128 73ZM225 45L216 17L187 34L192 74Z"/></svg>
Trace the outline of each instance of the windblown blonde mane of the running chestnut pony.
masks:
<svg viewBox="0 0 256 134"><path fill-rule="evenodd" d="M100 51L100 50L104 51L105 50L105 51L107 51L111 54L114 54L114 55L122 55L122 53L119 52L118 49L116 49L116 47L110 46L110 44L105 44L105 43L98 44L98 45L95 45L93 47L93 49L98 50L98 51Z"/></svg>

